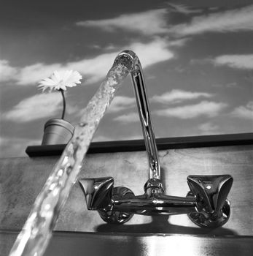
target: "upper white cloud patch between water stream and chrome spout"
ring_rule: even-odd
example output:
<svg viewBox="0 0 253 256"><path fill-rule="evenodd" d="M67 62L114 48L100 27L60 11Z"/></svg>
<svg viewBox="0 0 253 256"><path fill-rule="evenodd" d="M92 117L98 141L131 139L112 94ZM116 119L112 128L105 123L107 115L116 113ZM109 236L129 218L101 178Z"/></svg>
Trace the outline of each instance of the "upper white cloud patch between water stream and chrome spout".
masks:
<svg viewBox="0 0 253 256"><path fill-rule="evenodd" d="M112 100L111 105L109 106L108 113L116 113L121 110L128 108L133 108L136 106L136 99L134 97L125 97L125 96L116 96Z"/></svg>

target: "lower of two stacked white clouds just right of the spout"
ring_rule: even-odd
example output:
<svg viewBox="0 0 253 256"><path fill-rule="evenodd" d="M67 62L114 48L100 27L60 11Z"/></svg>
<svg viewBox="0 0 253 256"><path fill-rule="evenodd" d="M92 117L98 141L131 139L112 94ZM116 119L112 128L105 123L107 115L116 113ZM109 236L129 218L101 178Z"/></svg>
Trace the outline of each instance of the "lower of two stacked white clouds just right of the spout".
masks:
<svg viewBox="0 0 253 256"><path fill-rule="evenodd" d="M227 105L222 102L202 101L194 105L184 105L176 108L156 110L157 116L176 117L181 119L196 118L198 116L214 117Z"/></svg>

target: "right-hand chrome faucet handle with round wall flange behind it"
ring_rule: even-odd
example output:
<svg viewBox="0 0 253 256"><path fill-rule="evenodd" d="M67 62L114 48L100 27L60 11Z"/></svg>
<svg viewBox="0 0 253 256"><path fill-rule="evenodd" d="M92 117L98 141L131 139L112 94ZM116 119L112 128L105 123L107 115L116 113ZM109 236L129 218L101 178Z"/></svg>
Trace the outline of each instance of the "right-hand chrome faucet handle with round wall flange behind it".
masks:
<svg viewBox="0 0 253 256"><path fill-rule="evenodd" d="M190 192L195 196L198 212L188 214L192 222L201 227L219 227L230 217L227 195L233 184L230 175L188 176Z"/></svg>

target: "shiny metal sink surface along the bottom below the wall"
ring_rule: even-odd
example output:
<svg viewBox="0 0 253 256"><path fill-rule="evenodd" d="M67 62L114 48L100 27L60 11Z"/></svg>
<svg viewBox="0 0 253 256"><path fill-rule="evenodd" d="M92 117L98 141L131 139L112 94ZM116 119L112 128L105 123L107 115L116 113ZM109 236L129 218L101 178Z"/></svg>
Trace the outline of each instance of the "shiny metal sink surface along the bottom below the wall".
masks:
<svg viewBox="0 0 253 256"><path fill-rule="evenodd" d="M0 231L6 256L17 231ZM253 236L189 236L165 234L54 232L45 256L252 255Z"/></svg>

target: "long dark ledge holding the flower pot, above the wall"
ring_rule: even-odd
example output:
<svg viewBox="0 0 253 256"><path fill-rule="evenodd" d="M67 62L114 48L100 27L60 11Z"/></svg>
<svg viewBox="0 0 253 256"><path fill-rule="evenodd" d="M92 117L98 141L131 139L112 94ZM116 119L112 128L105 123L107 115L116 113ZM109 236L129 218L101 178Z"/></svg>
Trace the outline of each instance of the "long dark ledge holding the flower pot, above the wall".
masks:
<svg viewBox="0 0 253 256"><path fill-rule="evenodd" d="M156 139L156 143L158 150L172 148L249 145L253 144L253 133L158 138ZM62 154L65 146L66 144L28 146L26 148L26 154L28 154L29 157L58 156ZM119 140L93 142L90 144L87 154L144 150L144 140Z"/></svg>

